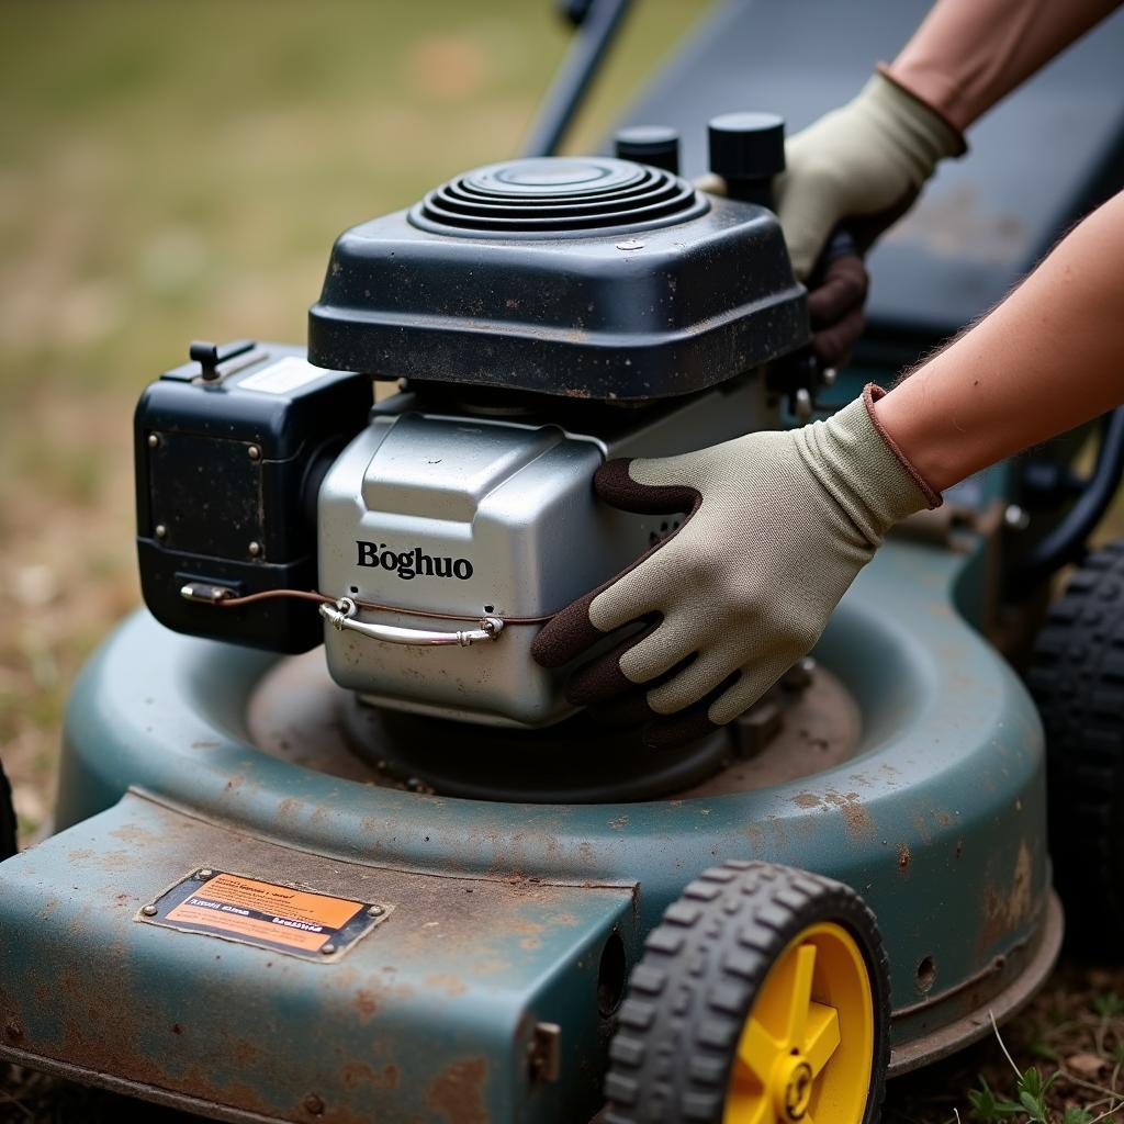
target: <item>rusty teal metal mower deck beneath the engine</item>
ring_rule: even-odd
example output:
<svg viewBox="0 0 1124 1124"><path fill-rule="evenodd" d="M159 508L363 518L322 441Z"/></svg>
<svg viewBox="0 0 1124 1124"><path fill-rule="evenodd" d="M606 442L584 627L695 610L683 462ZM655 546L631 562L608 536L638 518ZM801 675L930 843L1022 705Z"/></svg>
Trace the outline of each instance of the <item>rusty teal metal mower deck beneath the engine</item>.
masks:
<svg viewBox="0 0 1124 1124"><path fill-rule="evenodd" d="M891 1072L942 1057L1030 997L1061 936L1041 729L957 609L972 561L888 545L825 670L772 704L777 738L701 791L614 804L408 786L319 662L136 615L75 689L60 833L3 868L0 1054L226 1120L589 1118L644 937L741 858L858 889L894 966ZM311 958L165 927L201 871L378 917Z"/></svg>

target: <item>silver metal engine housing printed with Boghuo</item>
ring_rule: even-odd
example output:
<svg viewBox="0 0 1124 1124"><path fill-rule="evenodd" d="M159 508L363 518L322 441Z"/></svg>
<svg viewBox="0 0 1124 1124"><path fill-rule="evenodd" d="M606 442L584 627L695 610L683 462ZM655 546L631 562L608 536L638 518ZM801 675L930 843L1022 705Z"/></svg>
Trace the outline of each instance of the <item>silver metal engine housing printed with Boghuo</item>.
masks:
<svg viewBox="0 0 1124 1124"><path fill-rule="evenodd" d="M542 620L624 569L678 525L599 504L590 480L613 456L664 456L778 424L753 374L674 408L587 406L586 424L374 408L319 492L320 589L392 606L359 619L471 627L428 616ZM564 672L531 658L532 623L471 647L380 643L325 627L333 678L379 706L492 725L565 717Z"/></svg>

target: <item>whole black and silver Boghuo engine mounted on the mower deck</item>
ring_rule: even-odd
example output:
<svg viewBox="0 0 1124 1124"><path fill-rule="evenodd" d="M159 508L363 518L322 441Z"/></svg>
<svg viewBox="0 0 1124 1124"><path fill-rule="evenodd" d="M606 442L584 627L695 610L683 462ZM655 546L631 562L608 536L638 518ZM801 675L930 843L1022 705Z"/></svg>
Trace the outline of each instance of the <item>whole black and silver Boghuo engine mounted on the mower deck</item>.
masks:
<svg viewBox="0 0 1124 1124"><path fill-rule="evenodd" d="M531 658L536 626L678 524L599 505L593 473L776 427L808 366L805 291L747 201L782 166L782 126L733 115L710 135L738 198L680 179L665 130L618 147L656 164L478 169L337 241L307 360L193 345L136 415L157 619L278 652L323 634L366 704L360 740L410 774L434 773L419 752L487 735L517 755L560 723L547 736L600 755L564 672ZM399 387L373 409L372 377ZM320 616L293 590L325 595ZM720 742L676 754L669 782Z"/></svg>

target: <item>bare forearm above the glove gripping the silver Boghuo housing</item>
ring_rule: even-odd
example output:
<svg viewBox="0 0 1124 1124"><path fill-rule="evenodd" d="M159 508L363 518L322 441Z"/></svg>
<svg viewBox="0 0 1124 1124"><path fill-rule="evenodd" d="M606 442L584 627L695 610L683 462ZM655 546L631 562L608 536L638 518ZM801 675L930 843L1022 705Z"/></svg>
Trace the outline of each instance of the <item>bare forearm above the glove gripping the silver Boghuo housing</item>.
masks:
<svg viewBox="0 0 1124 1124"><path fill-rule="evenodd" d="M1124 192L876 409L937 491L1124 402Z"/></svg>

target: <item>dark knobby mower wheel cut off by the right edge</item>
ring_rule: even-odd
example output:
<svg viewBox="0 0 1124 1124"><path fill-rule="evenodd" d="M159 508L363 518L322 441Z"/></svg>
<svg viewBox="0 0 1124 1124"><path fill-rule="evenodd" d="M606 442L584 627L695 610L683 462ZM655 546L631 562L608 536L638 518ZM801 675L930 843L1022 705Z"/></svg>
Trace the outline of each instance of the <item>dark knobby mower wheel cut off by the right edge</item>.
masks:
<svg viewBox="0 0 1124 1124"><path fill-rule="evenodd" d="M1046 732L1050 852L1070 941L1124 935L1124 542L1089 555L1050 609L1027 681Z"/></svg>

